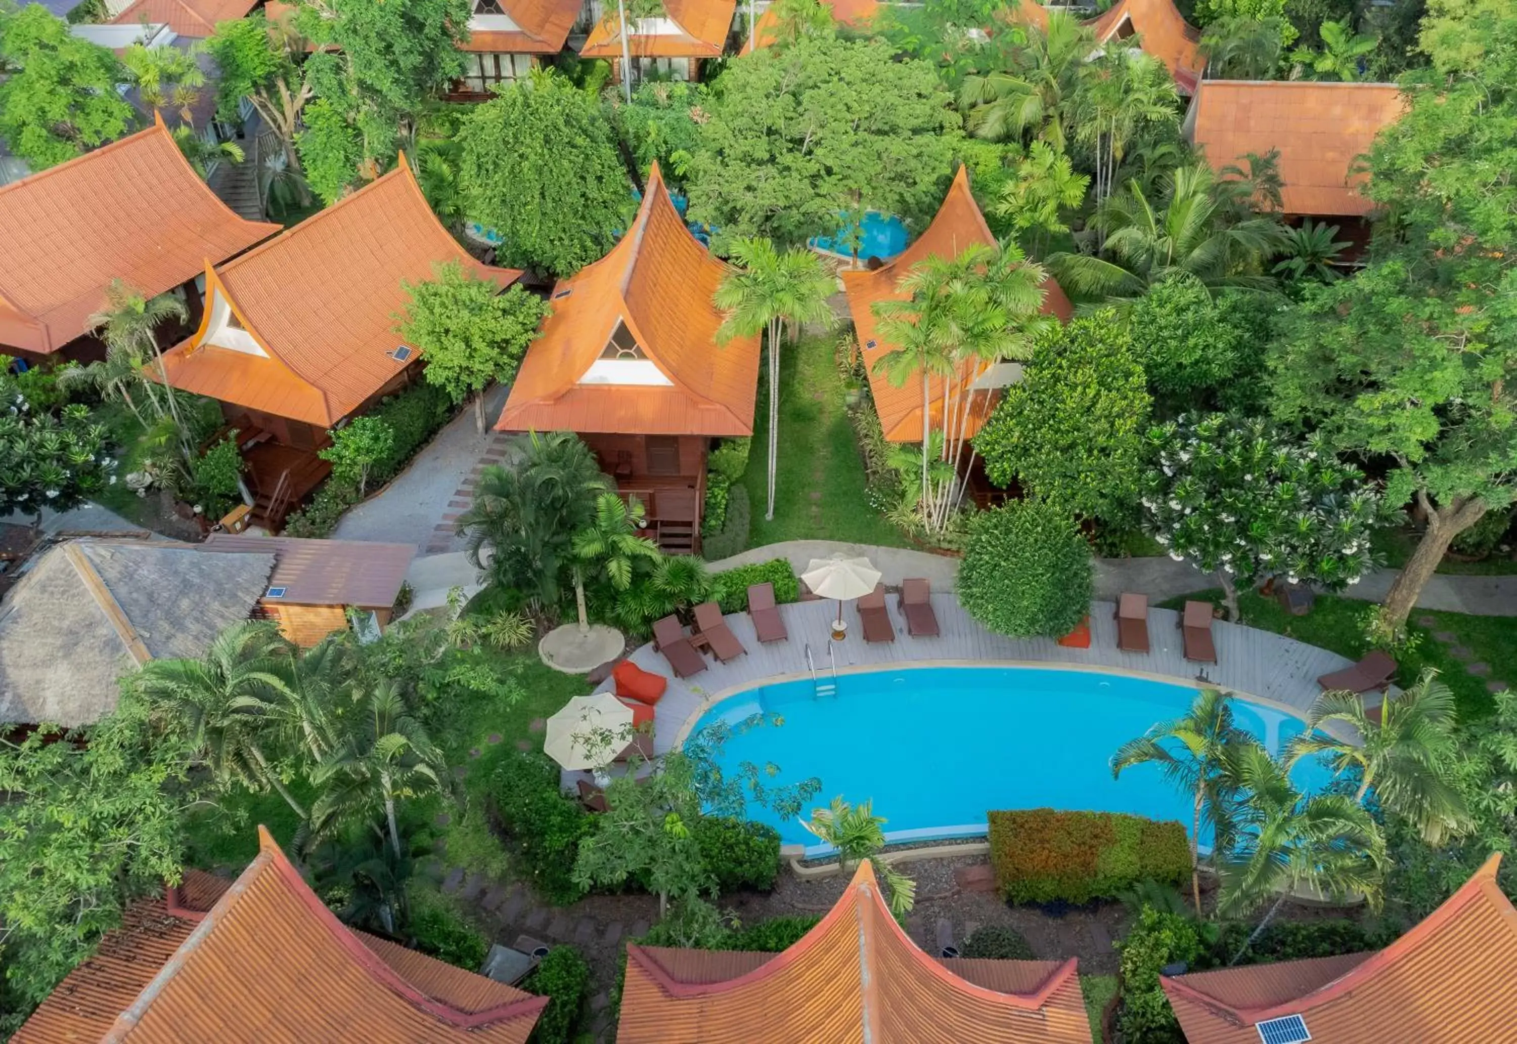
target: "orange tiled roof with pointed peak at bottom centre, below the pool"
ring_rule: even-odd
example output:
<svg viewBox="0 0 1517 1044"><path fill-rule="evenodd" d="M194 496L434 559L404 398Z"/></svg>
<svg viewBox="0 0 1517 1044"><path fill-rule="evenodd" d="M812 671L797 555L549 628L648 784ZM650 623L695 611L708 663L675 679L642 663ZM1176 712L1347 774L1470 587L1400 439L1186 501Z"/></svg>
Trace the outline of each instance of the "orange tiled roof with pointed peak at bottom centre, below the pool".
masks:
<svg viewBox="0 0 1517 1044"><path fill-rule="evenodd" d="M1074 961L934 961L868 862L780 954L627 947L617 1044L1091 1044Z"/></svg>

